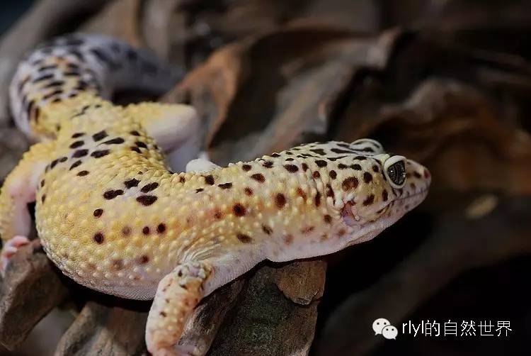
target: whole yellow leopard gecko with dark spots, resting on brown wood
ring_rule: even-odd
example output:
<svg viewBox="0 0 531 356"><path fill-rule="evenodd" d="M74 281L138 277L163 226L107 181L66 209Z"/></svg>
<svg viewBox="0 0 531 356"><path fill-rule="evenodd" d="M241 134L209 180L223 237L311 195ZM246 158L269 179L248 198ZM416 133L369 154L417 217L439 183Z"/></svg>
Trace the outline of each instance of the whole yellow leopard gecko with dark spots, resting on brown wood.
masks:
<svg viewBox="0 0 531 356"><path fill-rule="evenodd" d="M195 111L103 99L109 83L149 89L149 75L165 77L164 69L149 62L146 73L145 63L128 62L141 56L115 40L74 38L37 50L13 79L16 122L41 142L6 179L0 233L8 251L16 250L28 235L26 203L36 201L39 238L64 274L107 294L154 299L146 338L156 355L178 352L174 345L200 299L258 262L326 255L369 240L428 192L426 167L368 139L171 172L164 152L190 147ZM81 69L67 75L72 62L91 76ZM122 71L118 78L109 62L118 66L111 72ZM135 71L146 79L128 79Z"/></svg>

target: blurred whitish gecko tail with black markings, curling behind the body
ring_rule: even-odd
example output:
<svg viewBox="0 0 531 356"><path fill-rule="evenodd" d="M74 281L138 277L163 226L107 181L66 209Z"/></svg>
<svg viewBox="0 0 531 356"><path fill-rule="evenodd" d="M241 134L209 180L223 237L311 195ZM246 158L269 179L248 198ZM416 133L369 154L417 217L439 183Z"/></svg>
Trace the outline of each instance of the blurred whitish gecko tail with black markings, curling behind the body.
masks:
<svg viewBox="0 0 531 356"><path fill-rule="evenodd" d="M9 95L15 122L33 136L40 109L83 92L110 99L117 91L161 95L183 77L145 50L105 35L73 33L54 38L18 65Z"/></svg>

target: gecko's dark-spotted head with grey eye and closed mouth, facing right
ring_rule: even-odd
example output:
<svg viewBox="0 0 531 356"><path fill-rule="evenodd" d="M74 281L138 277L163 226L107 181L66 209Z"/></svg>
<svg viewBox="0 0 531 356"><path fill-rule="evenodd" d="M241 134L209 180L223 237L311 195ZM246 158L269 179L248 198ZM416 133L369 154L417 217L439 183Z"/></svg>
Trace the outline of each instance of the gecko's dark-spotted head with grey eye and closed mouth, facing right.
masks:
<svg viewBox="0 0 531 356"><path fill-rule="evenodd" d="M363 145L372 150L363 150ZM342 174L341 223L348 226L352 243L374 238L405 213L421 204L431 176L426 167L401 155L384 152L374 140L357 140L351 149L355 165Z"/></svg>

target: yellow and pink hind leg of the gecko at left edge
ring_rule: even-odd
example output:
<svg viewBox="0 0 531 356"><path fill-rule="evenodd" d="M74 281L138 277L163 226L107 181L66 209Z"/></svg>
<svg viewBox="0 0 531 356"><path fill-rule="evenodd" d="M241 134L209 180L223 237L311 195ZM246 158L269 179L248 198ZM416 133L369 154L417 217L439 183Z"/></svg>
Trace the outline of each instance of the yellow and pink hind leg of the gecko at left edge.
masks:
<svg viewBox="0 0 531 356"><path fill-rule="evenodd" d="M53 143L38 143L26 152L18 166L6 178L0 191L0 272L4 274L18 248L29 243L31 216L28 203L35 201L39 179L50 157Z"/></svg>

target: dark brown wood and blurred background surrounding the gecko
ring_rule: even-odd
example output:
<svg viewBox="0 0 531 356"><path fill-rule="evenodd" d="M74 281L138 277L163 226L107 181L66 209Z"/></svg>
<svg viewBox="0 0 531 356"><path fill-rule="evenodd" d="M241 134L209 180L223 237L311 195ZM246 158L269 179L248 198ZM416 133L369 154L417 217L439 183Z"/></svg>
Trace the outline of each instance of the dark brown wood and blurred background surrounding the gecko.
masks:
<svg viewBox="0 0 531 356"><path fill-rule="evenodd" d="M6 100L21 56L62 33L113 35L183 69L161 100L198 109L218 165L370 137L433 175L426 201L374 240L265 263L205 301L225 310L209 355L529 355L530 23L525 0L2 1L0 182L29 145ZM115 98L144 99L156 98ZM149 304L50 271L40 284L57 278L64 294L26 304L35 323L57 308L23 337L12 330L26 316L6 316L3 286L5 355L145 353ZM375 335L376 318L398 328L396 340ZM439 335L402 328L428 321Z"/></svg>

